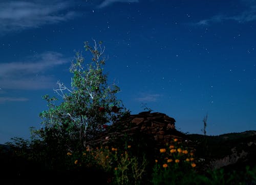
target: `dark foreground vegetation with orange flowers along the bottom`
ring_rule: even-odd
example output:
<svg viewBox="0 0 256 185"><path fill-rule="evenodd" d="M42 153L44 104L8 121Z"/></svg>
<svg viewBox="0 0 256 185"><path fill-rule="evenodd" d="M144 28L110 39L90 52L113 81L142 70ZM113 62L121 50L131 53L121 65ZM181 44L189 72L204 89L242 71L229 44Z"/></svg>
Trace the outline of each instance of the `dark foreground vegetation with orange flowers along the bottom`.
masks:
<svg viewBox="0 0 256 185"><path fill-rule="evenodd" d="M158 155L136 156L139 143L129 140L126 148L120 142L36 160L16 139L16 146L1 145L1 184L256 184L256 131L188 137L197 143L193 151L179 139Z"/></svg>

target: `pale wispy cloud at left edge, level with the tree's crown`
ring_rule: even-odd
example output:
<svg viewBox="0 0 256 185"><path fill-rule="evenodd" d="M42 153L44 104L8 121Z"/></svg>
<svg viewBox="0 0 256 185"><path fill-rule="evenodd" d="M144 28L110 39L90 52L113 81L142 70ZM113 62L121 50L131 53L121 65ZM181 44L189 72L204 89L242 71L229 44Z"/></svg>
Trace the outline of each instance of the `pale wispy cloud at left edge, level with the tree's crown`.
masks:
<svg viewBox="0 0 256 185"><path fill-rule="evenodd" d="M0 86L2 89L37 90L52 87L52 76L44 75L50 68L69 62L57 52L28 57L24 62L0 64Z"/></svg>

